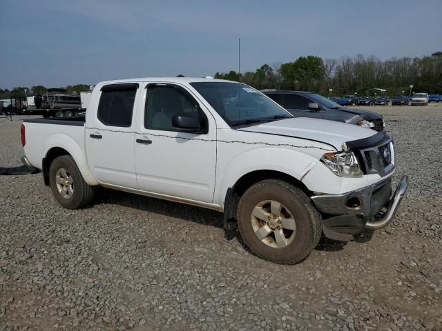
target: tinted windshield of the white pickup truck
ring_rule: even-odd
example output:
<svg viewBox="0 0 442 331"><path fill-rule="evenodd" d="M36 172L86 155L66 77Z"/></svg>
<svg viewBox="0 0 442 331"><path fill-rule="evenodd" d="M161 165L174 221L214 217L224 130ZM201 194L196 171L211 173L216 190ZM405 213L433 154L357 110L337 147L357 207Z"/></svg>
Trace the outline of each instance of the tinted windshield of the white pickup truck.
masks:
<svg viewBox="0 0 442 331"><path fill-rule="evenodd" d="M292 117L261 92L242 83L191 83L229 126Z"/></svg>

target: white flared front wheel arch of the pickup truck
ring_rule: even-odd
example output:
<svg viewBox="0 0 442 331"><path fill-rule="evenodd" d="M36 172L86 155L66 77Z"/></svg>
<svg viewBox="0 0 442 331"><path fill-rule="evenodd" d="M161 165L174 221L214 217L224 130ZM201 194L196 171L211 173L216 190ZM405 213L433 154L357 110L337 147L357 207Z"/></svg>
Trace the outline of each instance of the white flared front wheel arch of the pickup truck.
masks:
<svg viewBox="0 0 442 331"><path fill-rule="evenodd" d="M273 170L288 174L300 181L316 163L318 159L315 157L290 148L262 147L238 154L224 168L218 169L216 182L220 185L215 191L213 202L224 208L227 190L250 172Z"/></svg>

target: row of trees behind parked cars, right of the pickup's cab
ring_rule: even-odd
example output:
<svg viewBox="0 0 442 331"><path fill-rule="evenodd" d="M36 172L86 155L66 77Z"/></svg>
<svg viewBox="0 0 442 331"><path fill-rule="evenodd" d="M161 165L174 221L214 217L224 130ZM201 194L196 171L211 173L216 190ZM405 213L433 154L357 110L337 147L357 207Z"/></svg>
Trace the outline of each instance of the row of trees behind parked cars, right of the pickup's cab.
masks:
<svg viewBox="0 0 442 331"><path fill-rule="evenodd" d="M407 94L410 85L416 92L442 94L442 52L386 61L362 54L341 59L309 55L293 62L265 64L255 72L216 72L214 77L241 81L258 90L309 90L325 95L365 95L372 88L385 88L388 95Z"/></svg>

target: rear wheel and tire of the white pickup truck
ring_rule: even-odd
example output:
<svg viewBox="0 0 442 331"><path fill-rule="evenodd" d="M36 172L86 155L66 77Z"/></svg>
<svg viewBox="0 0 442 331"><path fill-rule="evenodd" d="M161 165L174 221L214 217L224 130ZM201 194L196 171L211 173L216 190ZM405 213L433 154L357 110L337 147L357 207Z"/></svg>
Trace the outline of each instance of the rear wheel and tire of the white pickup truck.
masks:
<svg viewBox="0 0 442 331"><path fill-rule="evenodd" d="M74 159L69 155L57 157L49 169L49 185L58 203L66 209L78 209L88 205L95 187L84 181Z"/></svg>

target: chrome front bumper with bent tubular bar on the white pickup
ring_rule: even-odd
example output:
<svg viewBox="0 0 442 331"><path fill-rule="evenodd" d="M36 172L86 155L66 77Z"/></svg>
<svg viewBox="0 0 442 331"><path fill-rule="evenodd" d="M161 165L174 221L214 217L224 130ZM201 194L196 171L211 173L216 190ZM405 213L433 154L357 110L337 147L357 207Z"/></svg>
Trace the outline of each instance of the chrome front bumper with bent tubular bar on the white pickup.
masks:
<svg viewBox="0 0 442 331"><path fill-rule="evenodd" d="M394 219L407 191L407 183L408 177L403 176L391 199L391 179L345 194L311 197L323 214L325 237L349 241L364 232L385 228Z"/></svg>

